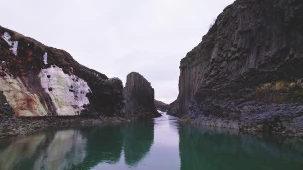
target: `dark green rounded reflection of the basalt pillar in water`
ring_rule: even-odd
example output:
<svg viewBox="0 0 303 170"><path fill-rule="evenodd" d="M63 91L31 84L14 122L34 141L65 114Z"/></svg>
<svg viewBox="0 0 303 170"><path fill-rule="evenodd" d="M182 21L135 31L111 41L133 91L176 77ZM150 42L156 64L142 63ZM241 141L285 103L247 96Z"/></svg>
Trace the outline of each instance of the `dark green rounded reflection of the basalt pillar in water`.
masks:
<svg viewBox="0 0 303 170"><path fill-rule="evenodd" d="M137 165L150 151L153 143L153 124L153 120L141 120L124 128L124 155L129 166Z"/></svg>

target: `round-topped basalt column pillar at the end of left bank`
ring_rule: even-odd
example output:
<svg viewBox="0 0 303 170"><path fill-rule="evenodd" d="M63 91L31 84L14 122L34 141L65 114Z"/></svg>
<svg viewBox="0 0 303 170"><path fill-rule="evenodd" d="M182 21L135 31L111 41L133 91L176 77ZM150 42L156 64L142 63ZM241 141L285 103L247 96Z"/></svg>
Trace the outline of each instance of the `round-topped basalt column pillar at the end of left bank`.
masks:
<svg viewBox="0 0 303 170"><path fill-rule="evenodd" d="M160 114L154 106L154 90L142 75L132 72L127 75L124 87L125 106L123 112L139 117L157 117Z"/></svg>

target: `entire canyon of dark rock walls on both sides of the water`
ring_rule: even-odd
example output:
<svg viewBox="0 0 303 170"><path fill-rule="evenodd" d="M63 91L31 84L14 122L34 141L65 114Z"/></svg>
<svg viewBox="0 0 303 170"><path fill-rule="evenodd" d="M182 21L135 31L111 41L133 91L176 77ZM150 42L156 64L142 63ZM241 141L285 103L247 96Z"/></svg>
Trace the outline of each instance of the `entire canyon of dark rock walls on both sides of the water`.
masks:
<svg viewBox="0 0 303 170"><path fill-rule="evenodd" d="M0 137L70 123L159 117L303 137L303 2L236 0L180 61L177 99L0 26ZM158 110L158 111L157 111Z"/></svg>

